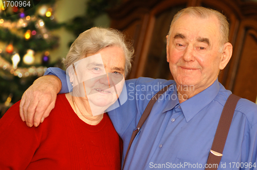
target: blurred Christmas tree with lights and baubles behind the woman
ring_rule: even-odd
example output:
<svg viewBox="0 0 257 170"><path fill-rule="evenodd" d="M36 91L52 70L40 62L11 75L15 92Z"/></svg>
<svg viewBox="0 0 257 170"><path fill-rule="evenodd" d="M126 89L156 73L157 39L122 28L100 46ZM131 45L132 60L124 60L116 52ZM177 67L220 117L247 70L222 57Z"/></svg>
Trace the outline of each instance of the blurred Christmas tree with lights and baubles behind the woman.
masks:
<svg viewBox="0 0 257 170"><path fill-rule="evenodd" d="M54 3L0 1L0 117L54 65L48 51L58 47L59 38L49 31L61 27L54 20ZM35 55L41 63L34 63Z"/></svg>

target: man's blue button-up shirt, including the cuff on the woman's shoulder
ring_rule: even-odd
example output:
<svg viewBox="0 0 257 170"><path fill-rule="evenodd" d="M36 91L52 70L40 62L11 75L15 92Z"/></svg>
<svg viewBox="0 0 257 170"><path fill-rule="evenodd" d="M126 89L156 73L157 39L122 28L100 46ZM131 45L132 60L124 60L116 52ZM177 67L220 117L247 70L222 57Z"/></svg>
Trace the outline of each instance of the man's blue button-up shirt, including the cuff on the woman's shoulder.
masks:
<svg viewBox="0 0 257 170"><path fill-rule="evenodd" d="M68 92L64 71L52 68L45 74L61 78L62 92ZM124 169L205 168L219 118L231 94L218 80L182 103L178 101L173 80L126 80L127 101L108 112L123 140L123 159L146 105L154 94L168 84L173 85L154 104L150 116L132 143ZM218 169L257 169L256 159L257 105L240 99Z"/></svg>

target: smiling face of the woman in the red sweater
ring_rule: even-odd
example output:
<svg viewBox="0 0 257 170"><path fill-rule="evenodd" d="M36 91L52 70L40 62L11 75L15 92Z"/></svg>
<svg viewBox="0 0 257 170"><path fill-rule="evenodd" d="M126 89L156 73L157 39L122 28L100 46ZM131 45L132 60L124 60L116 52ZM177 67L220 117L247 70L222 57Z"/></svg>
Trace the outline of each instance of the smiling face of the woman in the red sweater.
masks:
<svg viewBox="0 0 257 170"><path fill-rule="evenodd" d="M88 54L74 65L72 96L85 97L93 116L94 109L104 111L118 99L125 73L125 55L121 48L106 47L98 53Z"/></svg>

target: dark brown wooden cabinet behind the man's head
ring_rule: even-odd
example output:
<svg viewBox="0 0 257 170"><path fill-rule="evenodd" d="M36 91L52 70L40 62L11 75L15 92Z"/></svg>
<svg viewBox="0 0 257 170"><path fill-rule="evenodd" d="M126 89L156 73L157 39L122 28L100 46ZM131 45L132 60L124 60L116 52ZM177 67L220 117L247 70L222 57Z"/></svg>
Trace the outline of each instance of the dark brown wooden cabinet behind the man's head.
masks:
<svg viewBox="0 0 257 170"><path fill-rule="evenodd" d="M225 14L230 24L233 55L219 74L219 82L253 102L257 96L257 3L242 0L126 0L109 10L111 26L133 39L135 56L127 78L172 79L166 61L166 35L174 14L189 6L203 6Z"/></svg>

